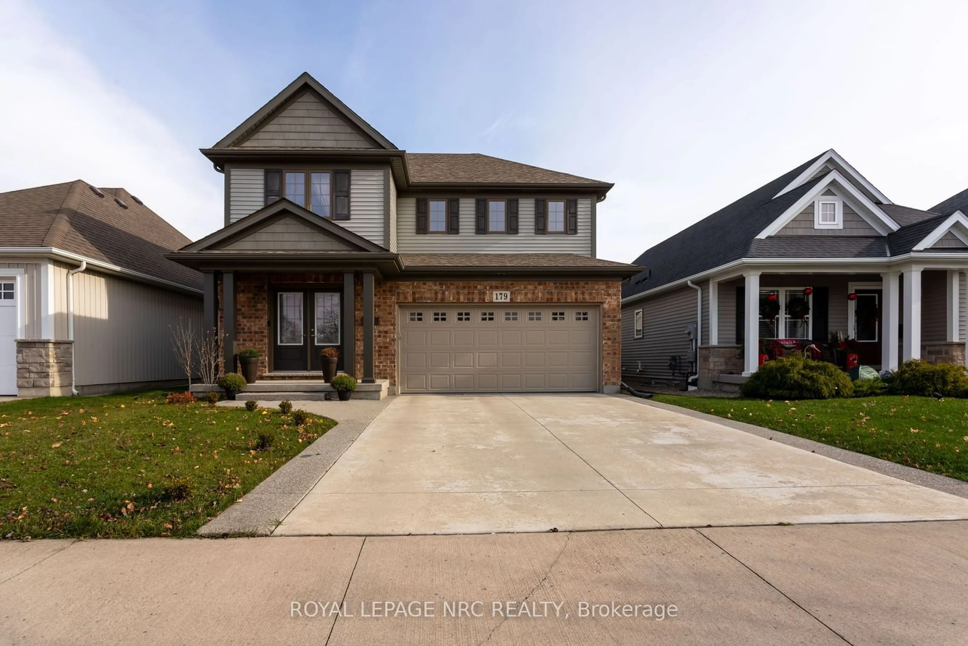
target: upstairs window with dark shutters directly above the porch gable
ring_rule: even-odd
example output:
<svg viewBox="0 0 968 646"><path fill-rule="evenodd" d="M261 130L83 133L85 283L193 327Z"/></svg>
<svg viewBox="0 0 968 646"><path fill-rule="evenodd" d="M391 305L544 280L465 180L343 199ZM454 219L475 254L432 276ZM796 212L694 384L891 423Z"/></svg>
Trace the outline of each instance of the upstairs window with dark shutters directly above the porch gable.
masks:
<svg viewBox="0 0 968 646"><path fill-rule="evenodd" d="M333 191L333 179L336 190ZM336 213L332 196L337 198ZM348 170L266 170L265 203L286 198L324 218L349 219Z"/></svg>

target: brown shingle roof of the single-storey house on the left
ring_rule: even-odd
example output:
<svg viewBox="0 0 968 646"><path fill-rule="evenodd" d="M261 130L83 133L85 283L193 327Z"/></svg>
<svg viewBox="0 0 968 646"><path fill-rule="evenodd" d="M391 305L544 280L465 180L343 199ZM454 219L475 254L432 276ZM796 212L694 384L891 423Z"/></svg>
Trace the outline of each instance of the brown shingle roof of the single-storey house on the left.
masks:
<svg viewBox="0 0 968 646"><path fill-rule="evenodd" d="M201 289L200 273L162 257L188 244L187 237L125 189L101 191L103 198L78 179L0 193L3 246L54 247Z"/></svg>

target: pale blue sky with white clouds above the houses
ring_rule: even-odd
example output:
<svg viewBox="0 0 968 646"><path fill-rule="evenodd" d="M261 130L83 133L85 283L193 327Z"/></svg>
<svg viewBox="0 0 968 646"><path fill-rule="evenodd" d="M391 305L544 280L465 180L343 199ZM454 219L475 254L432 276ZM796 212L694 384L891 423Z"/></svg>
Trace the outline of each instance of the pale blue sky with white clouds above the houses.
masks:
<svg viewBox="0 0 968 646"><path fill-rule="evenodd" d="M966 5L0 0L0 190L122 185L197 238L197 148L308 71L407 150L615 182L604 258L830 147L928 207L968 186Z"/></svg>

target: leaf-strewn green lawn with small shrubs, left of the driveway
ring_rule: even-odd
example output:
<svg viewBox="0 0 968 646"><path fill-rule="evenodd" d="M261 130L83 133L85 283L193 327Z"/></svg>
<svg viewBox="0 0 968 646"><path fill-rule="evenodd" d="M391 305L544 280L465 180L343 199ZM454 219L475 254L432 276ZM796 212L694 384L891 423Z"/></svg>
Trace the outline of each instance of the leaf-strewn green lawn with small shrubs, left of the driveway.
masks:
<svg viewBox="0 0 968 646"><path fill-rule="evenodd" d="M0 538L191 536L336 425L165 396L0 404Z"/></svg>

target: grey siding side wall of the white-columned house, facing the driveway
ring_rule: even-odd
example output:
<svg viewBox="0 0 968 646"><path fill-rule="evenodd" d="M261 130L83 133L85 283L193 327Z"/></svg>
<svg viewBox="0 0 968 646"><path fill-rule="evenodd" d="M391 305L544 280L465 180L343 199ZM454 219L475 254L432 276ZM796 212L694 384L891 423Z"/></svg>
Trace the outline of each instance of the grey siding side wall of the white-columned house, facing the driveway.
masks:
<svg viewBox="0 0 968 646"><path fill-rule="evenodd" d="M635 310L642 309L642 338L634 334ZM685 287L621 309L621 374L626 379L668 382L669 357L681 356L688 369L685 326L696 321L696 291ZM677 379L681 379L677 375Z"/></svg>

